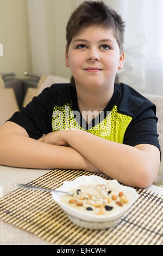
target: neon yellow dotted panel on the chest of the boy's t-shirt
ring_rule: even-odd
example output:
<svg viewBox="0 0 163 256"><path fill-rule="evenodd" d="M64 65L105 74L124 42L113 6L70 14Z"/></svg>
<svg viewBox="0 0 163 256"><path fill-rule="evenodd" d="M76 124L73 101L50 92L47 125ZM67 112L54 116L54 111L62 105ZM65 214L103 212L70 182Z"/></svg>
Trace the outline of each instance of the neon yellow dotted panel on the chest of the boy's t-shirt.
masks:
<svg viewBox="0 0 163 256"><path fill-rule="evenodd" d="M100 123L86 132L106 140L123 143L124 133L131 120L132 117L118 113L117 106L114 106ZM70 128L84 130L73 115L72 100L63 106L54 106L52 118L53 132Z"/></svg>

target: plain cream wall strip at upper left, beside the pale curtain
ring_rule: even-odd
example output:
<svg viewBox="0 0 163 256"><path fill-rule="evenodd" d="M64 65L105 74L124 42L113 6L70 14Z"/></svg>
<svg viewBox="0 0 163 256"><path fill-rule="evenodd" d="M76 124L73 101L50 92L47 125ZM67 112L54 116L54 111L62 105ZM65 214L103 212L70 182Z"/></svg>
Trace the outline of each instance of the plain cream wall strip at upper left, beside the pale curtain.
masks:
<svg viewBox="0 0 163 256"><path fill-rule="evenodd" d="M27 0L0 1L0 43L0 73L15 72L22 77L32 64Z"/></svg>

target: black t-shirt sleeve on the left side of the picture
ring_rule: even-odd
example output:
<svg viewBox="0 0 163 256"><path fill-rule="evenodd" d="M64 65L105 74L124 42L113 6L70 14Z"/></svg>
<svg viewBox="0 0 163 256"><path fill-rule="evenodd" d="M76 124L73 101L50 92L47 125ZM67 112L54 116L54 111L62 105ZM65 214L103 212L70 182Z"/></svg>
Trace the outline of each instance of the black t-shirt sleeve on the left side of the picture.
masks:
<svg viewBox="0 0 163 256"><path fill-rule="evenodd" d="M7 121L26 129L30 138L39 139L43 134L52 132L52 112L56 99L55 86L45 88L26 108L15 112Z"/></svg>

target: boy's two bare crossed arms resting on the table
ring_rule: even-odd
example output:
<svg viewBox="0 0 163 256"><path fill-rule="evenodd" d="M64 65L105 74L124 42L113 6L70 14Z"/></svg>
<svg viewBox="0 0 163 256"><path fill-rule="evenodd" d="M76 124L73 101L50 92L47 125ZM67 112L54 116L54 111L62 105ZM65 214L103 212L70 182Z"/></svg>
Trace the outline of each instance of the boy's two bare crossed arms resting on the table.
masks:
<svg viewBox="0 0 163 256"><path fill-rule="evenodd" d="M0 164L103 172L129 186L148 187L158 173L160 152L153 145L132 147L83 130L60 130L35 140L18 124L6 122L0 127Z"/></svg>

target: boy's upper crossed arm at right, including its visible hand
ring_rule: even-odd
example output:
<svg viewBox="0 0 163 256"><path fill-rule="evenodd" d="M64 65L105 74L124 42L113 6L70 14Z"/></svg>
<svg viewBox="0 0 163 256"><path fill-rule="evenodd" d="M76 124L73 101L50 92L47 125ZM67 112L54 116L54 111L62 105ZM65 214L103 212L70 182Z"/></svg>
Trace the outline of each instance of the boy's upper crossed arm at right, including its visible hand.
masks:
<svg viewBox="0 0 163 256"><path fill-rule="evenodd" d="M160 152L154 145L132 147L72 129L49 133L39 140L53 145L68 143L104 174L129 186L148 187L158 174Z"/></svg>

